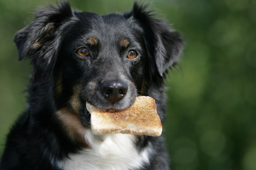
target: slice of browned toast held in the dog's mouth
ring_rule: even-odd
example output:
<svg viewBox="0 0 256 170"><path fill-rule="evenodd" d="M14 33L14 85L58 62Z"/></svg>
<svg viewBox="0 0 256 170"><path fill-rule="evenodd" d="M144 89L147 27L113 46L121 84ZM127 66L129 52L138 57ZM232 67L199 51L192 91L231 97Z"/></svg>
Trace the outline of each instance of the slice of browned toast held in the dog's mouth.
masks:
<svg viewBox="0 0 256 170"><path fill-rule="evenodd" d="M138 96L133 105L122 111L100 109L86 102L91 114L92 133L126 133L160 136L162 124L156 112L155 100L149 96Z"/></svg>

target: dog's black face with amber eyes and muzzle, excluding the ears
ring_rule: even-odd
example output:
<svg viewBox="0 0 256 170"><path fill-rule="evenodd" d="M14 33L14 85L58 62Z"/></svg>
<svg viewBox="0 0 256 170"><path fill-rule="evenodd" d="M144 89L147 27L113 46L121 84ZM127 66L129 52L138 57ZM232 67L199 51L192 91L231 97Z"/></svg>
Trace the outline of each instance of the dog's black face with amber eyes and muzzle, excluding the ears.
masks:
<svg viewBox="0 0 256 170"><path fill-rule="evenodd" d="M146 79L142 36L118 14L85 12L77 19L59 49L57 96L70 100L76 112L85 102L104 109L130 107Z"/></svg>

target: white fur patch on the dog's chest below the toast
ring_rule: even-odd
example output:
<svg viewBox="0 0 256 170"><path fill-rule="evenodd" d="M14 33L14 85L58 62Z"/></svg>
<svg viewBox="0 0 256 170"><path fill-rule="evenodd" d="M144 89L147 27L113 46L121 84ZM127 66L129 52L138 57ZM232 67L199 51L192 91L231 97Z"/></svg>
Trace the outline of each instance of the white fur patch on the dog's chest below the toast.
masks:
<svg viewBox="0 0 256 170"><path fill-rule="evenodd" d="M85 132L85 139L92 149L58 163L63 170L131 170L149 164L150 144L141 152L135 147L135 136L128 134L94 135Z"/></svg>

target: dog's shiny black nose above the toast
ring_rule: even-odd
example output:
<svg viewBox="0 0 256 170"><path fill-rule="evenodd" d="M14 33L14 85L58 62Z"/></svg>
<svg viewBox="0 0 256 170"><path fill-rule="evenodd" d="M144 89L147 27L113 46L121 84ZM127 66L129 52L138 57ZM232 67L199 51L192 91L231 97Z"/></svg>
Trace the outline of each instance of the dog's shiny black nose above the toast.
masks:
<svg viewBox="0 0 256 170"><path fill-rule="evenodd" d="M106 81L100 84L100 91L107 100L111 100L114 104L126 95L128 86L121 80Z"/></svg>

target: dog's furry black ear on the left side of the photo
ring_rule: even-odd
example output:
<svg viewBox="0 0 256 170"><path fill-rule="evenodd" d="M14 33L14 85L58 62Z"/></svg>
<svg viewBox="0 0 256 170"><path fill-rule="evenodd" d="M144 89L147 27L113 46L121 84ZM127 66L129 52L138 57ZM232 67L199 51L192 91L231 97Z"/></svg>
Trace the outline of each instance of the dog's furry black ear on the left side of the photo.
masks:
<svg viewBox="0 0 256 170"><path fill-rule="evenodd" d="M19 61L29 58L33 65L31 82L47 76L53 69L61 37L72 16L69 3L59 2L57 7L50 5L36 10L34 20L16 33L14 42Z"/></svg>

